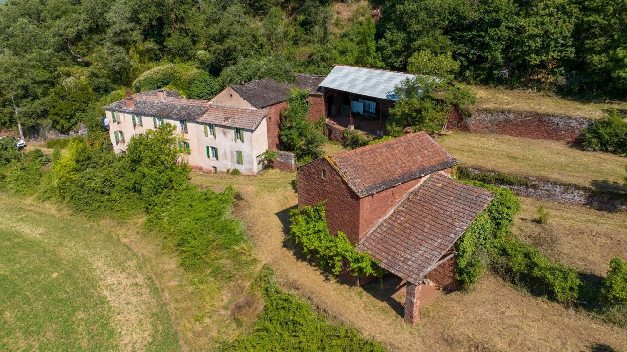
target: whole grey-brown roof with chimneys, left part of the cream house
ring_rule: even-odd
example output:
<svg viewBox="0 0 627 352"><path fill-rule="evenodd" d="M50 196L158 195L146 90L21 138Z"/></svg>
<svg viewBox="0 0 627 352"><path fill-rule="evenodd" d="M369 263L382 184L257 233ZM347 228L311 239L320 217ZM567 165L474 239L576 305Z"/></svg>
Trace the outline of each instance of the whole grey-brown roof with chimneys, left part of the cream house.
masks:
<svg viewBox="0 0 627 352"><path fill-rule="evenodd" d="M105 110L122 111L125 113L135 113L162 118L177 118L180 120L195 121L208 108L206 100L181 98L176 91L165 91L166 98L157 98L157 91L145 91L135 93L133 98L134 106L126 106L125 99L116 101L104 107Z"/></svg>

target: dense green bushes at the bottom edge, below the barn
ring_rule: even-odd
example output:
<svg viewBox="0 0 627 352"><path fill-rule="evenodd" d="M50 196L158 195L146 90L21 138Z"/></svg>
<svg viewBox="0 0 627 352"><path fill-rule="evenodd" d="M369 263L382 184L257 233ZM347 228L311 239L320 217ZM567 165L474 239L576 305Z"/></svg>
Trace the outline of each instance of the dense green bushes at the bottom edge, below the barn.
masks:
<svg viewBox="0 0 627 352"><path fill-rule="evenodd" d="M300 297L281 291L264 266L254 287L265 307L250 336L223 344L220 351L385 351L381 344L359 336L344 325L333 325Z"/></svg>

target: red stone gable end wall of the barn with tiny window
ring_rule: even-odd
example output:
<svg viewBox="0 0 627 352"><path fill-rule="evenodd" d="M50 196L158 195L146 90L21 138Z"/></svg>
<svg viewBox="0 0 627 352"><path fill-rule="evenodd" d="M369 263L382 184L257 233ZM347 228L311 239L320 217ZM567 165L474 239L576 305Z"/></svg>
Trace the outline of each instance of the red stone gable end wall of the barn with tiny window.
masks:
<svg viewBox="0 0 627 352"><path fill-rule="evenodd" d="M322 178L323 168L327 180ZM324 208L331 234L341 230L355 243L359 238L359 197L324 158L298 168L298 207L314 207L322 200L328 200Z"/></svg>

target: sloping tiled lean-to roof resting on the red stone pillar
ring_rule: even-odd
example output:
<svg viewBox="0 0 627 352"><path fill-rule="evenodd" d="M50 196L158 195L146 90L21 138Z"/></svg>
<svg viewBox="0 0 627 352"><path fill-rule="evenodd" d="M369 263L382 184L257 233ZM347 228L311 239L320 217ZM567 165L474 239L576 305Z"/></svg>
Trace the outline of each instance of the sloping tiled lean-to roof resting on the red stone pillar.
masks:
<svg viewBox="0 0 627 352"><path fill-rule="evenodd" d="M381 267L416 284L492 199L487 190L433 173L362 237L357 251L368 252Z"/></svg>

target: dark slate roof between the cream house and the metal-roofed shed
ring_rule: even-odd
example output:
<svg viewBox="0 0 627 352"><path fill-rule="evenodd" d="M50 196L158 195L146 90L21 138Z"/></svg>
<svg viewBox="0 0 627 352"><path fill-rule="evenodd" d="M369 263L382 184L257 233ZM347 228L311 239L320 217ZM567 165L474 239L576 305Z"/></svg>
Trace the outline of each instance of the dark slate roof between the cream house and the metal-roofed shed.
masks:
<svg viewBox="0 0 627 352"><path fill-rule="evenodd" d="M255 106L255 108L265 108L285 101L292 88L307 90L309 93L317 93L318 85L324 76L297 75L297 83L279 83L271 78L242 83L241 85L231 85L242 98Z"/></svg>

